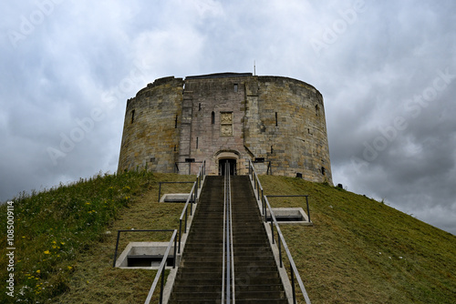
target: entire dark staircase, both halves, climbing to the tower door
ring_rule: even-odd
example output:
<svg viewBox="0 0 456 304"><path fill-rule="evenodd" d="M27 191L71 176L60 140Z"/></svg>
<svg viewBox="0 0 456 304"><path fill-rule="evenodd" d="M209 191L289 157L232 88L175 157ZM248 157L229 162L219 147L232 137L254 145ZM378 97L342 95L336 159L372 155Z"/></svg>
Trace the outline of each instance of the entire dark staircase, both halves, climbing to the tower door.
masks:
<svg viewBox="0 0 456 304"><path fill-rule="evenodd" d="M288 303L248 177L232 177L236 303ZM206 177L168 303L220 303L223 177Z"/></svg>

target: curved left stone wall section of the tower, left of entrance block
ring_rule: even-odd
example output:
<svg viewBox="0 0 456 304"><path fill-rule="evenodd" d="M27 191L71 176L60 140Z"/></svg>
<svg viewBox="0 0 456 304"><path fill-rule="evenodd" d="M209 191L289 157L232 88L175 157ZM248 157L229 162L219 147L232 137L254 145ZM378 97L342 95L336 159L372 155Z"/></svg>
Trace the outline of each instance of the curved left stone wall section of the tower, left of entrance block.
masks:
<svg viewBox="0 0 456 304"><path fill-rule="evenodd" d="M173 172L179 153L182 86L181 78L157 79L127 102L119 171L147 166Z"/></svg>

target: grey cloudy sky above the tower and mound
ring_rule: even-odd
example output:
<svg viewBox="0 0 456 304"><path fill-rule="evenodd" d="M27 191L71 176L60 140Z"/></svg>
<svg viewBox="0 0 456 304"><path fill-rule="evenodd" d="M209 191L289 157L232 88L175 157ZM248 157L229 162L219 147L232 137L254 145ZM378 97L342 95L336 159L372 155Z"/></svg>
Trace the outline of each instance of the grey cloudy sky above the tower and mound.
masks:
<svg viewBox="0 0 456 304"><path fill-rule="evenodd" d="M117 169L126 100L254 72L323 94L333 179L456 234L453 0L0 4L0 201Z"/></svg>

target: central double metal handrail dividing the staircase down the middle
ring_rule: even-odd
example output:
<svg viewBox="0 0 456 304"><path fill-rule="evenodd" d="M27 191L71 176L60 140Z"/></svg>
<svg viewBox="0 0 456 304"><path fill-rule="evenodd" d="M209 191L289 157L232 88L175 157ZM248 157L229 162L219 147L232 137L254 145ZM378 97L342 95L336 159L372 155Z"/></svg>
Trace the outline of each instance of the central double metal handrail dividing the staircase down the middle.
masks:
<svg viewBox="0 0 456 304"><path fill-rule="evenodd" d="M230 165L225 164L223 198L222 303L235 303Z"/></svg>

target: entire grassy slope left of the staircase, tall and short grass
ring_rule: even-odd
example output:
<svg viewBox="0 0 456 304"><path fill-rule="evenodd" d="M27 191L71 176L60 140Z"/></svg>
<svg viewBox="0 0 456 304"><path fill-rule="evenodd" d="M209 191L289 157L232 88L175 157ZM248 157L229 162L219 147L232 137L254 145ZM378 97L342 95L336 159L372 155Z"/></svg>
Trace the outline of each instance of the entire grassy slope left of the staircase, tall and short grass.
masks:
<svg viewBox="0 0 456 304"><path fill-rule="evenodd" d="M115 232L125 228L178 227L182 207L169 204L153 208L157 197L147 195L151 187L168 177L172 180L194 180L190 176L146 172L98 175L72 185L60 185L42 193L22 194L15 198L15 292L14 297L2 292L0 302L77 303L87 299L87 303L99 303L120 295L125 300L108 302L131 303L135 302L132 297L136 295L130 291L136 292L139 282L144 285L141 299L145 299L153 280L150 272L128 273L111 269ZM170 187L167 189L173 192ZM190 189L186 190L190 192ZM0 214L5 223L6 205L0 207ZM142 238L164 240L169 239L171 234L134 237L133 240L138 241ZM2 234L0 269L7 268L6 240L6 235ZM121 245L124 246L128 240L122 239ZM3 282L8 279L7 276L6 271L1 272ZM107 277L108 281L105 281ZM110 289L106 285L110 281L117 281L118 284L112 283L113 289ZM67 296L60 299L62 295Z"/></svg>

